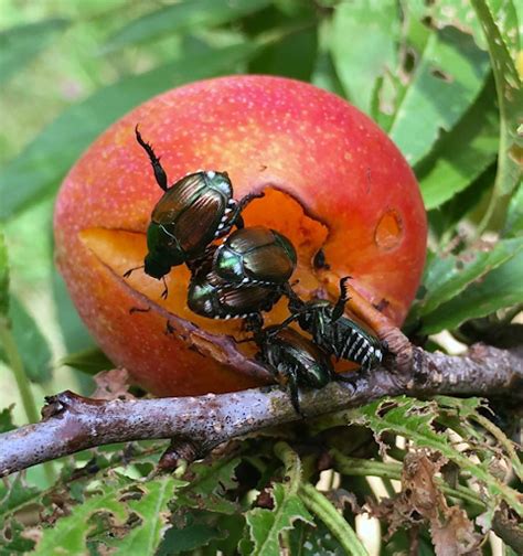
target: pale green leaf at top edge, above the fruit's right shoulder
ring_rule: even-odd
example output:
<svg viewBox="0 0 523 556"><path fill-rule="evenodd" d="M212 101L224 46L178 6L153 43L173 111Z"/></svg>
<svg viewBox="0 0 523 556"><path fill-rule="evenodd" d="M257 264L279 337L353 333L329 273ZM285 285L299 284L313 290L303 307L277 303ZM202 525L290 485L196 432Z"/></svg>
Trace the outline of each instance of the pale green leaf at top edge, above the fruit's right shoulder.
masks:
<svg viewBox="0 0 523 556"><path fill-rule="evenodd" d="M337 6L332 21L332 60L349 99L366 114L376 79L397 65L399 17L394 0L355 0Z"/></svg>

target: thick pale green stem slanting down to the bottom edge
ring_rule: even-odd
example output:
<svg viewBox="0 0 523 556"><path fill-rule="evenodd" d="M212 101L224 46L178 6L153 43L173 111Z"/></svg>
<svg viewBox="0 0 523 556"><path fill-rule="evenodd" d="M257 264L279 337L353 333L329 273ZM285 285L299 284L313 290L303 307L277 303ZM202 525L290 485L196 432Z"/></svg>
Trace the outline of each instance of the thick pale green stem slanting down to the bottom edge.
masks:
<svg viewBox="0 0 523 556"><path fill-rule="evenodd" d="M369 556L355 531L316 487L311 483L302 484L299 495L303 504L325 524L348 554L352 556Z"/></svg>

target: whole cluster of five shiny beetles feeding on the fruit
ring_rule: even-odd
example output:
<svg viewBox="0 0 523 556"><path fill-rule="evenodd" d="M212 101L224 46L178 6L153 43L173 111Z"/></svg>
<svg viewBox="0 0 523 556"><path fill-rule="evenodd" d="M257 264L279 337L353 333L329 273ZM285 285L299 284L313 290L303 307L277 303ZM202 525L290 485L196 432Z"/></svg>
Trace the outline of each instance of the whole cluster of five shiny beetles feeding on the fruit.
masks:
<svg viewBox="0 0 523 556"><path fill-rule="evenodd" d="M291 242L265 226L244 226L242 211L263 193L236 201L227 173L215 171L198 171L169 186L160 159L138 126L136 138L164 192L147 229L145 264L137 268L163 280L162 297L168 296L164 276L185 264L191 271L189 308L212 319L244 319L252 335L242 341L256 343L256 359L279 384L287 385L299 414L299 387L321 388L330 381L343 379L334 372L332 355L357 363L363 371L382 362L384 344L344 314L350 277L340 280L334 303L303 301L289 284L297 264ZM264 328L262 313L282 296L288 299L290 317ZM308 336L290 328L292 322Z"/></svg>

